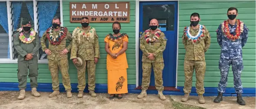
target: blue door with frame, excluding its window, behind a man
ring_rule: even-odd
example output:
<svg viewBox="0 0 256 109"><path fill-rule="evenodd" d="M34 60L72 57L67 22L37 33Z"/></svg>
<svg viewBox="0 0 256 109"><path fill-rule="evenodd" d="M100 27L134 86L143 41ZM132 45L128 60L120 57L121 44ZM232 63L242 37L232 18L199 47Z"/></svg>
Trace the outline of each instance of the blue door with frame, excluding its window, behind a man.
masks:
<svg viewBox="0 0 256 109"><path fill-rule="evenodd" d="M163 86L175 87L176 86L176 60L177 60L177 23L178 23L178 1L164 1L164 2L140 2L140 32L143 31L143 5L174 5L174 29L173 31L163 31L166 35L167 44L166 50L163 52L164 69L163 69ZM140 43L139 43L140 44ZM139 85L142 83L142 51L139 50ZM150 77L150 86L155 86L155 79L153 69Z"/></svg>

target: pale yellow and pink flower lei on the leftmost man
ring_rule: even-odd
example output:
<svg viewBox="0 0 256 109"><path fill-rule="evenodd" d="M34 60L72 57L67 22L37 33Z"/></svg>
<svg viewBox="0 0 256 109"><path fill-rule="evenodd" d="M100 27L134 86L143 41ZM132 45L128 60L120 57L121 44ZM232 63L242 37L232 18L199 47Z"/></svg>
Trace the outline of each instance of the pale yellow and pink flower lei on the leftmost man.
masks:
<svg viewBox="0 0 256 109"><path fill-rule="evenodd" d="M36 31L33 30L33 28L30 28L30 36L28 38L26 38L23 34L23 30L22 28L19 28L18 30L20 32L20 36L19 39L21 40L21 42L26 43L26 44L30 44L31 42L33 42L33 40L36 38Z"/></svg>

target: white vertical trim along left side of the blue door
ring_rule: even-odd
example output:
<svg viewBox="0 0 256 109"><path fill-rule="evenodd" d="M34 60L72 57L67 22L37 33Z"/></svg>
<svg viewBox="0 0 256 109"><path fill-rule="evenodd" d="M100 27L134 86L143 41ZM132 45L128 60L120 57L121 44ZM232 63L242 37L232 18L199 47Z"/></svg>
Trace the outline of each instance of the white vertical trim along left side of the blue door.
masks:
<svg viewBox="0 0 256 109"><path fill-rule="evenodd" d="M135 51L136 51L136 87L139 86L139 32L140 32L140 28L139 28L139 25L140 25L140 2L139 0L136 0L136 15L135 15Z"/></svg>

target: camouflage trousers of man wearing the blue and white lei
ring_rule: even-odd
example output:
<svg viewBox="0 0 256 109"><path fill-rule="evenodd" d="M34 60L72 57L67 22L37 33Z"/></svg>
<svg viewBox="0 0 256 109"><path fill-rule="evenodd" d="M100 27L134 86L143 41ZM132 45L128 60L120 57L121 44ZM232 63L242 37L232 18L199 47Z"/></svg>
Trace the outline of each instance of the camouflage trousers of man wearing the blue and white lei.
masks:
<svg viewBox="0 0 256 109"><path fill-rule="evenodd" d="M184 61L184 73L185 73L185 83L184 83L184 93L191 93L192 78L194 69L196 70L196 93L204 93L204 75L206 70L205 61Z"/></svg>

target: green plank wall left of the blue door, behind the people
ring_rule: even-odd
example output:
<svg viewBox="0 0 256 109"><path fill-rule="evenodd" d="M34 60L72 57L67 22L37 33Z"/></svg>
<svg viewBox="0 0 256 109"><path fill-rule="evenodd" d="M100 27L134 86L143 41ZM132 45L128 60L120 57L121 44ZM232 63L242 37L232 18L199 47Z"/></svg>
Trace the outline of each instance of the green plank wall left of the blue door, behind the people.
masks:
<svg viewBox="0 0 256 109"><path fill-rule="evenodd" d="M67 27L72 33L74 28L81 26L80 23L70 23L70 2L95 2L95 1L63 1L63 26ZM96 1L105 2L105 1ZM113 1L118 2L118 1ZM128 84L136 84L136 61L135 61L135 1L130 2L130 23L121 23L121 32L129 35L128 49L126 51L127 61L129 68L127 69ZM106 71L106 51L104 49L104 38L106 34L112 33L112 23L90 23L99 35L100 42L100 57L96 65L96 84L107 84L107 71ZM70 59L70 53L68 58ZM16 64L0 64L0 82L18 82ZM47 63L38 64L38 83L52 83L50 71ZM69 62L69 74L71 83L77 83L77 70L73 62ZM60 83L62 83L61 74L59 74ZM30 79L27 79L30 82ZM87 83L87 73L86 73ZM17 87L17 86L16 86ZM72 87L75 88L75 87Z"/></svg>

